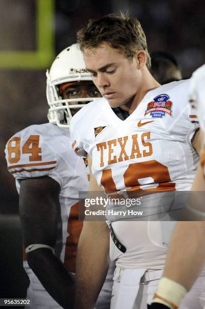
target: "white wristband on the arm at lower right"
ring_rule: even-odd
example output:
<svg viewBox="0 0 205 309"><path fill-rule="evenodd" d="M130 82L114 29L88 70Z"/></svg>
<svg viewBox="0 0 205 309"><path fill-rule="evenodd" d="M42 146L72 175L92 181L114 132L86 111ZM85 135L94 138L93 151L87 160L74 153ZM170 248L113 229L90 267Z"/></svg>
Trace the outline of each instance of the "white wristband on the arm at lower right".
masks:
<svg viewBox="0 0 205 309"><path fill-rule="evenodd" d="M163 277L160 280L153 302L160 302L171 309L177 309L187 292L181 284Z"/></svg>

